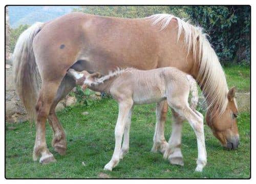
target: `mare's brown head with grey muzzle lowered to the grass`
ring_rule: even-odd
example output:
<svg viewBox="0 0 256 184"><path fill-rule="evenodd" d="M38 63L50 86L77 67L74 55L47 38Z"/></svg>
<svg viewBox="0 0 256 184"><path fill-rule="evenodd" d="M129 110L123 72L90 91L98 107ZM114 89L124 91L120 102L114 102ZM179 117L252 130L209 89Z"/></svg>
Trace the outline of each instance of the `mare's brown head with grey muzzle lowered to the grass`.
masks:
<svg viewBox="0 0 256 184"><path fill-rule="evenodd" d="M207 125L211 128L217 139L220 140L223 147L236 149L239 145L239 133L237 125L238 108L236 99L234 99L234 88L231 88L227 94L227 107L221 116L215 115L210 110L206 113Z"/></svg>

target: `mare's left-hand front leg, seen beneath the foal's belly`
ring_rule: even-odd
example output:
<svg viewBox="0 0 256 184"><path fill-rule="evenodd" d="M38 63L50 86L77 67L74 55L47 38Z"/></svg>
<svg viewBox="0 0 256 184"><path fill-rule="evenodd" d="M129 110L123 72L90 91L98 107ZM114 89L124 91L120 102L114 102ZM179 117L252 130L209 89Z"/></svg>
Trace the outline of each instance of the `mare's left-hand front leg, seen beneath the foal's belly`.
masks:
<svg viewBox="0 0 256 184"><path fill-rule="evenodd" d="M166 100L157 103L157 107L156 107L157 123L156 123L154 138L153 138L154 144L151 149L152 152L160 151L161 153L164 153L165 149L168 146L168 143L164 138L164 124L166 121L167 111L168 111L168 104Z"/></svg>

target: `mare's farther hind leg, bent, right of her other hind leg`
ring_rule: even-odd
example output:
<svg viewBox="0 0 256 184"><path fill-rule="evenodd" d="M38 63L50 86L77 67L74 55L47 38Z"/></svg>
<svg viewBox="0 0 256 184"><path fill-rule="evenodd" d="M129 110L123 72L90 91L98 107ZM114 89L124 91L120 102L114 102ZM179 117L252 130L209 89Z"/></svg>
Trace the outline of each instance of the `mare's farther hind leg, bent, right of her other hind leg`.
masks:
<svg viewBox="0 0 256 184"><path fill-rule="evenodd" d="M67 150L67 140L66 140L66 134L61 126L56 113L55 113L55 107L58 104L58 102L65 98L70 90L75 86L75 81L65 76L58 88L57 95L55 96L54 102L51 106L51 110L48 116L49 124L51 125L53 129L53 140L52 140L52 147L56 152L58 152L60 155L65 155Z"/></svg>

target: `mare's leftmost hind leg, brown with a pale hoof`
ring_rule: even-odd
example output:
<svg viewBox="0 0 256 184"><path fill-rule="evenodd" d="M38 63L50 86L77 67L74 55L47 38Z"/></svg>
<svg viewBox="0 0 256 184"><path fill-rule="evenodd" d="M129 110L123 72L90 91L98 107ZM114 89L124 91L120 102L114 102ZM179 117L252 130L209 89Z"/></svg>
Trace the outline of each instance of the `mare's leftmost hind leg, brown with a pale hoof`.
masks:
<svg viewBox="0 0 256 184"><path fill-rule="evenodd" d="M46 120L60 82L61 80L42 80L36 104L36 139L33 150L33 159L37 160L37 158L41 156L39 160L41 164L55 162L55 158L48 150L46 144Z"/></svg>

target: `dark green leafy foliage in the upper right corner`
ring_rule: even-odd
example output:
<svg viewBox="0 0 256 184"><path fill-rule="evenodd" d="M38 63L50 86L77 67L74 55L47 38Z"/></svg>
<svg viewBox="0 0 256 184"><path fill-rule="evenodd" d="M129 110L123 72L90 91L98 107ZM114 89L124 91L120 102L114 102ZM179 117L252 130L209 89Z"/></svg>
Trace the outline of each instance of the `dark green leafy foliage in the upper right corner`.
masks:
<svg viewBox="0 0 256 184"><path fill-rule="evenodd" d="M185 11L209 35L222 64L250 62L250 6L187 6Z"/></svg>

